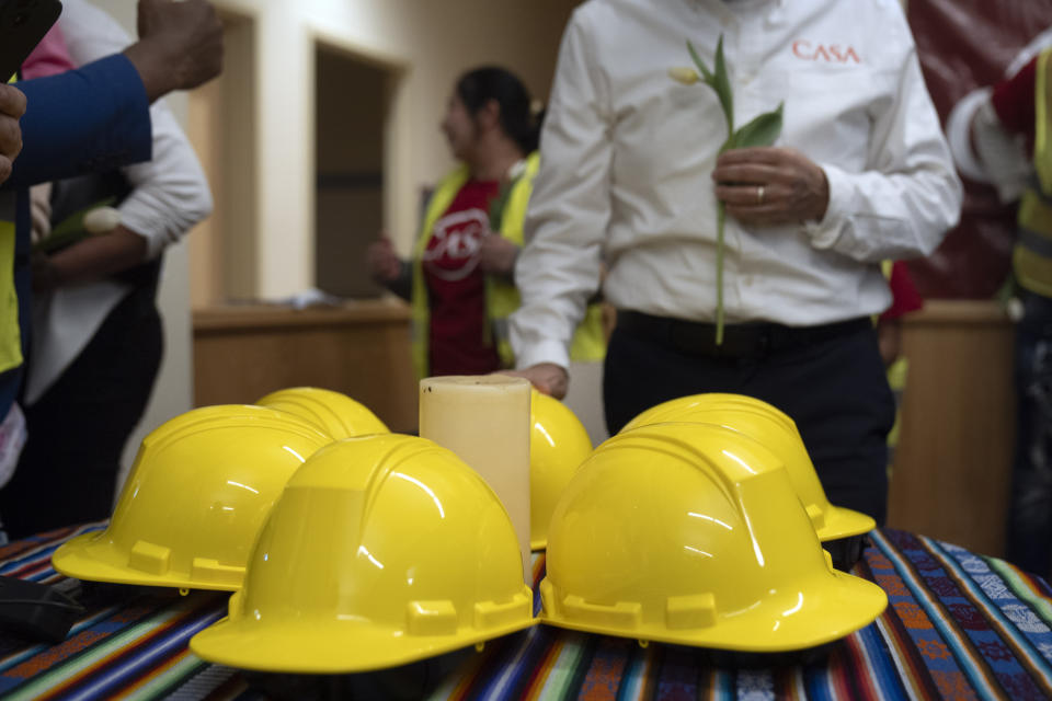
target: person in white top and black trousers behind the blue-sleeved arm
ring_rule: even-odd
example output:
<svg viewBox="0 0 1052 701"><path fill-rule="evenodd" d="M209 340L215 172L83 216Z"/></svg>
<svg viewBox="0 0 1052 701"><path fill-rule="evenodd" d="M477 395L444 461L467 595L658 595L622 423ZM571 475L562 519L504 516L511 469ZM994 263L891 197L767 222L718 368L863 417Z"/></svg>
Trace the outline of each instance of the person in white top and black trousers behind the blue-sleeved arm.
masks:
<svg viewBox="0 0 1052 701"><path fill-rule="evenodd" d="M69 68L132 43L85 0L65 0L55 36ZM41 49L53 53L48 42ZM23 72L41 70L31 55ZM45 70L61 66L50 58ZM34 188L42 197L33 203L33 338L21 402L28 437L0 490L0 514L14 538L110 515L125 444L160 369L163 251L211 211L201 164L163 100L150 107L150 161ZM53 222L82 231L81 212L111 200L113 226L57 250L44 245Z"/></svg>

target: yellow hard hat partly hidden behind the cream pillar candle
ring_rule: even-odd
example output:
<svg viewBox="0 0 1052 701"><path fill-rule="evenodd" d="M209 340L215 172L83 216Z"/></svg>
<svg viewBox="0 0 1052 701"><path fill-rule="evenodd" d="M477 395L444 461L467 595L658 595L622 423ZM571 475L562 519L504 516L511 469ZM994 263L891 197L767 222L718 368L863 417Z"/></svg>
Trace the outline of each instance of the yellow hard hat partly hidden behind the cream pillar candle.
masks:
<svg viewBox="0 0 1052 701"><path fill-rule="evenodd" d="M529 400L529 547L548 547L548 521L592 440L570 407L533 391Z"/></svg>

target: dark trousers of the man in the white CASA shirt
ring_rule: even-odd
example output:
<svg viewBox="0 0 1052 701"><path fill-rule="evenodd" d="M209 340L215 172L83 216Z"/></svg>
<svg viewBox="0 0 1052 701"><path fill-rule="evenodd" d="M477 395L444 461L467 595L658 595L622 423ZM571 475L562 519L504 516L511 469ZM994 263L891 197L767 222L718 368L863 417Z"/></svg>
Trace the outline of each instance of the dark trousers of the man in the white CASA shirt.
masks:
<svg viewBox="0 0 1052 701"><path fill-rule="evenodd" d="M618 319L603 379L611 435L640 412L677 397L704 392L755 397L796 422L833 504L883 524L887 439L895 404L871 324L859 320L817 333L768 326L771 332L758 344L739 342L730 327L733 355L728 357L706 347L711 345L710 326L678 333L683 331L678 326L668 332L661 323L622 324L621 315Z"/></svg>

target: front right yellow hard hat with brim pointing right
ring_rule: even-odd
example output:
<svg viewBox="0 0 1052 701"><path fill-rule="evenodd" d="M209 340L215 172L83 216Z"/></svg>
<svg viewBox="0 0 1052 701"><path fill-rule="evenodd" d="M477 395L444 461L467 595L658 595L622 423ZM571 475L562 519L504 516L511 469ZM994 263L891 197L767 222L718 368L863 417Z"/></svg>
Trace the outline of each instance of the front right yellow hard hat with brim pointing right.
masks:
<svg viewBox="0 0 1052 701"><path fill-rule="evenodd" d="M546 623L745 652L821 645L888 598L837 572L780 460L707 424L658 424L596 448L551 519Z"/></svg>

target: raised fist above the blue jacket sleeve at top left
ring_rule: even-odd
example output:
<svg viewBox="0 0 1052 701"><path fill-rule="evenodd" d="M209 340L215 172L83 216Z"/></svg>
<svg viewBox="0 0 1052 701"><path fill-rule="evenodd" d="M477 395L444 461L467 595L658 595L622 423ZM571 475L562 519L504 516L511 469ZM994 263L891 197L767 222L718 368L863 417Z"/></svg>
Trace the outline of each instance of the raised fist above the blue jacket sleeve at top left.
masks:
<svg viewBox="0 0 1052 701"><path fill-rule="evenodd" d="M222 24L207 0L139 0L139 41L124 54L150 102L190 90L222 70Z"/></svg>

